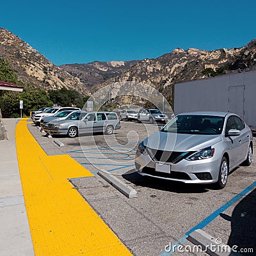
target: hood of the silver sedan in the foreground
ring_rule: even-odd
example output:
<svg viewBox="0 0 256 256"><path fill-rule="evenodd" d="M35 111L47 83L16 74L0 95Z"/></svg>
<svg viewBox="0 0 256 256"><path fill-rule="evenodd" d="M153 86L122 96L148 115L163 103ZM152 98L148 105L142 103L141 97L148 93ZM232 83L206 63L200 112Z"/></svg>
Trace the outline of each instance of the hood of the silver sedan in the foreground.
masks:
<svg viewBox="0 0 256 256"><path fill-rule="evenodd" d="M155 132L143 142L148 148L167 151L196 151L221 141L221 135Z"/></svg>

